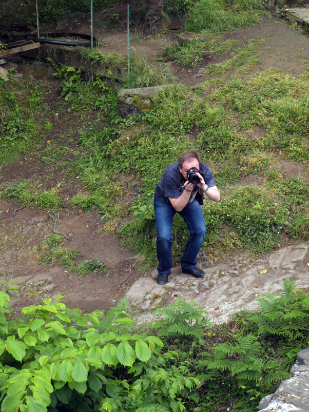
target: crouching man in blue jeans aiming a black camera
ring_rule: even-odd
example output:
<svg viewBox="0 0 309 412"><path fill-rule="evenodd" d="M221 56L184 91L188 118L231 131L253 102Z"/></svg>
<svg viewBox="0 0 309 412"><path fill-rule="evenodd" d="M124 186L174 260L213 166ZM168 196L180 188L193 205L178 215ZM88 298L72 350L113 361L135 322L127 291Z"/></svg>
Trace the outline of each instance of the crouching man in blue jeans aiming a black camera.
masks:
<svg viewBox="0 0 309 412"><path fill-rule="evenodd" d="M187 172L189 171L192 181L191 168L197 169L193 171L194 183L188 180ZM165 169L154 191L153 204L158 232L157 257L159 261L157 283L159 285L168 282L171 269L171 224L175 213L182 216L190 232L181 259L182 272L191 274L195 278L203 278L205 274L196 266L196 258L206 234L203 212L197 199L202 198L200 192L205 193L208 199L220 201L220 192L213 174L206 165L201 163L200 154L195 151L181 153L178 163L173 163Z"/></svg>

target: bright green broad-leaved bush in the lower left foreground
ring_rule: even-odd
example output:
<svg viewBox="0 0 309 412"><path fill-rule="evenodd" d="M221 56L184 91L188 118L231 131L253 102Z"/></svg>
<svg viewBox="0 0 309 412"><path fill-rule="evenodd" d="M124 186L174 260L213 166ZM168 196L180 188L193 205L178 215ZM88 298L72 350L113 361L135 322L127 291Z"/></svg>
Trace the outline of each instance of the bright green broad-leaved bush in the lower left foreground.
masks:
<svg viewBox="0 0 309 412"><path fill-rule="evenodd" d="M13 320L0 291L3 412L185 410L181 393L199 381L168 365L173 355L156 349L159 338L123 333L133 321L120 309L82 315L61 299L24 307Z"/></svg>

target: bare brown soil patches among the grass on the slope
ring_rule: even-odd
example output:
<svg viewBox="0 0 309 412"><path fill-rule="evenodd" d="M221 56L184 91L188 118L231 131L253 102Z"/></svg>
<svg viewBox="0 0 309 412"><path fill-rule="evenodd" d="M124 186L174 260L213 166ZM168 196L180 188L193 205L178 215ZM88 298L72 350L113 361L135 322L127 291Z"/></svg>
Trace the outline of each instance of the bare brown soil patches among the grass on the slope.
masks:
<svg viewBox="0 0 309 412"><path fill-rule="evenodd" d="M58 27L57 30L89 34L89 22L86 20L79 23L70 22L63 27ZM103 42L104 52L126 53L125 29L110 33L103 28L95 30L94 34ZM176 42L175 36L170 33L150 37L131 33L131 36L131 49L136 50L137 54L145 55L149 63L157 61L166 44ZM260 56L260 64L252 72L244 75L277 68L297 77L306 71L309 38L288 27L284 21L279 21L275 17L262 17L259 24L224 34L224 40L235 38L239 41L239 46L257 37L265 40L256 51ZM206 67L206 64L219 63L230 57L230 53L212 56L210 61L204 59L197 67L190 69L183 69L177 64L172 64L171 67L181 83L186 86L196 86L207 78L214 77L201 70ZM60 122L59 128L61 128ZM247 132L252 139L259 139L263 134L260 128ZM72 135L74 133L76 130L72 127ZM281 160L275 167L288 178L299 176L308 178L308 172L296 162ZM65 170L42 163L35 156L20 159L18 162L0 168L0 184L34 177L44 181L44 187L48 187L49 184L52 186L55 181L63 181L64 199L70 199L72 195L85 191L78 181L72 182L72 178L67 177ZM262 182L259 176L252 175L247 176L240 184L260 185ZM13 294L13 304L22 307L41 302L42 297L55 297L60 294L65 297L69 307L78 307L85 312L108 309L110 306L117 305L134 281L144 275L138 268L138 257L135 256L134 251L122 247L117 237L104 230L105 221L101 220L101 215L96 211L73 211L65 207L56 215L56 221L56 231L65 232L69 237L67 247L78 249L80 260L105 262L107 274L92 273L81 277L53 264L39 265L34 257L33 247L41 244L45 236L53 231L54 222L46 211L21 208L1 201L0 275L2 278L0 280L4 282L11 279L27 284L21 293Z"/></svg>

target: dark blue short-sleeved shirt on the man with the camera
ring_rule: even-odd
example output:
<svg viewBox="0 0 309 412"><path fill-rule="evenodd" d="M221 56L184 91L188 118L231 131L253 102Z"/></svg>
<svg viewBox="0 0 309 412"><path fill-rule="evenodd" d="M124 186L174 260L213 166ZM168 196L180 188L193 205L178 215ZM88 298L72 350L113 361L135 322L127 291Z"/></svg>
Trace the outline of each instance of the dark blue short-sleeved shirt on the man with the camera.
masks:
<svg viewBox="0 0 309 412"><path fill-rule="evenodd" d="M200 170L203 173L203 178L206 185L209 187L216 186L214 176L211 173L209 167L204 165L204 163L200 163ZM183 192L184 183L185 179L179 171L178 162L173 163L165 169L162 179L159 181L156 189L154 190L154 196L156 198L159 198L160 200L163 200L164 202L169 203L168 198L177 199L180 197L181 193ZM195 185L195 188L191 194L191 197L193 199L197 191L198 186Z"/></svg>

